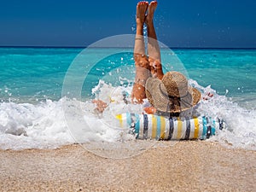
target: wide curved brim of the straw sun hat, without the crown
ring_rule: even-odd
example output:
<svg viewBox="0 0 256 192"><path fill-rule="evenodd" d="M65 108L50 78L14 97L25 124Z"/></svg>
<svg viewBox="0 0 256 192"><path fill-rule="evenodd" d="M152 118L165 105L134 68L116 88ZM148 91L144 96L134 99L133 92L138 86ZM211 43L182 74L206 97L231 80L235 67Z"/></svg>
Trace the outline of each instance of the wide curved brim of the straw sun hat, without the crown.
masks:
<svg viewBox="0 0 256 192"><path fill-rule="evenodd" d="M148 78L145 85L148 102L160 112L181 113L201 100L201 92L193 87L188 87L186 96L171 98L167 91L160 90L160 84L163 84L160 79Z"/></svg>

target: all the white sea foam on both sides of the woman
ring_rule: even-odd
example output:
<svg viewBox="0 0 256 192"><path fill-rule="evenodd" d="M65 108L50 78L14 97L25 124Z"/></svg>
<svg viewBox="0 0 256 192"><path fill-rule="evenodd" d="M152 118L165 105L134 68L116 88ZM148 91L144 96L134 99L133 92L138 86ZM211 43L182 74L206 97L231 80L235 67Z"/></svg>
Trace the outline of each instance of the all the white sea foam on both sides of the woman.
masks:
<svg viewBox="0 0 256 192"><path fill-rule="evenodd" d="M202 100L198 111L225 120L226 129L217 131L209 141L226 147L256 150L256 111L241 108L226 96L218 96L210 86L202 87L193 80L190 84L203 93L214 95L207 101ZM101 81L93 93L108 103L102 114L96 113L96 106L91 101L67 98L38 104L1 102L0 148L57 148L71 143L134 140L128 131L119 129L115 119L118 113L142 112L141 105L123 102L123 95L131 94L131 87L113 87ZM63 106L68 110L63 111Z"/></svg>

